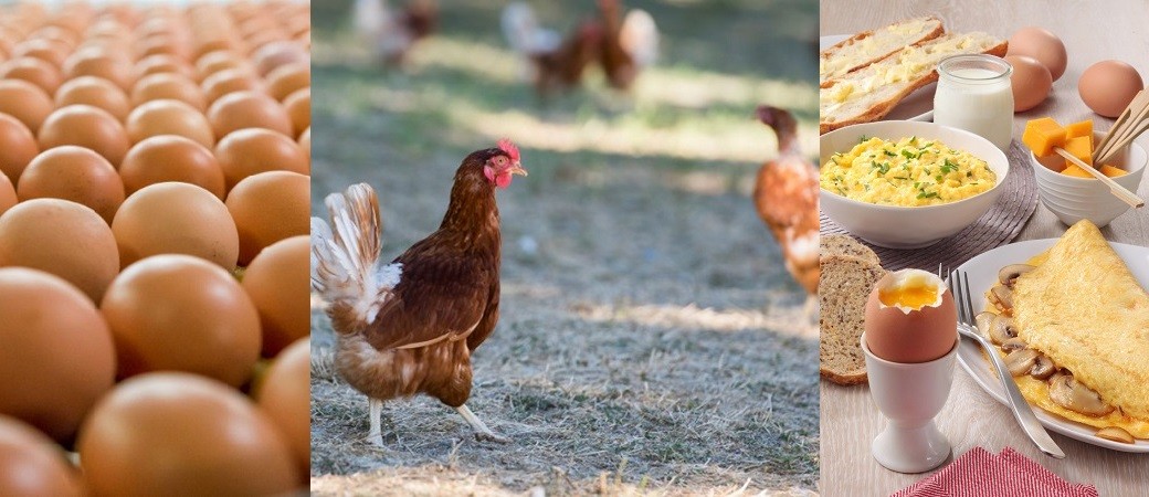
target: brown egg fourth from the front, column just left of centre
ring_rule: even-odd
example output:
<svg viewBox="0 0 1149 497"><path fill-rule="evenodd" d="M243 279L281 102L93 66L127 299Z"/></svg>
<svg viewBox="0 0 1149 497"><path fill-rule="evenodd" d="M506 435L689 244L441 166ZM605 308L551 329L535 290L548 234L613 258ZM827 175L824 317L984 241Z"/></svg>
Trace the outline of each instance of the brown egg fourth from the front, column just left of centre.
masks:
<svg viewBox="0 0 1149 497"><path fill-rule="evenodd" d="M105 222L124 202L124 184L108 160L84 147L65 145L37 155L20 176L21 201L63 199L87 205Z"/></svg>

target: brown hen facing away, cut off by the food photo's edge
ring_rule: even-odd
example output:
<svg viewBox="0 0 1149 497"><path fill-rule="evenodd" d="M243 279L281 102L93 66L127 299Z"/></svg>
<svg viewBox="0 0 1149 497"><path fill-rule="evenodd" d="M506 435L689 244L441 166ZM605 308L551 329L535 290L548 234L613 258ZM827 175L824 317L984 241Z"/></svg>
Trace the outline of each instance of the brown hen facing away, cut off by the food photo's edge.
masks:
<svg viewBox="0 0 1149 497"><path fill-rule="evenodd" d="M797 123L789 112L763 106L758 119L774 130L778 158L758 170L754 203L782 248L786 270L811 296L817 296L818 170L799 149Z"/></svg>

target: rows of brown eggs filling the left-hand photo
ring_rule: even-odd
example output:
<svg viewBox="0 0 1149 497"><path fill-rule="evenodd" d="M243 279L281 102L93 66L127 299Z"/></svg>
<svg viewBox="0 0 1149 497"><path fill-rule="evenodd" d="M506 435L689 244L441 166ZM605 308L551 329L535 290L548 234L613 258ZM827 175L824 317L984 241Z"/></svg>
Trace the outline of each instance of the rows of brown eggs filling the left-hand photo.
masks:
<svg viewBox="0 0 1149 497"><path fill-rule="evenodd" d="M0 495L306 486L309 51L301 1L0 6Z"/></svg>

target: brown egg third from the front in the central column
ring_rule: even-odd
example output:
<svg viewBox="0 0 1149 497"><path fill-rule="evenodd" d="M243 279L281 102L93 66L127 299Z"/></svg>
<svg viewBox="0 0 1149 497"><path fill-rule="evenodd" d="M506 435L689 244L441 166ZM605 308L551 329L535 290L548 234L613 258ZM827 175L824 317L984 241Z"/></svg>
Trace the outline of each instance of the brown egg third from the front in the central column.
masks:
<svg viewBox="0 0 1149 497"><path fill-rule="evenodd" d="M228 208L211 192L186 183L140 188L111 220L122 266L159 254L186 254L232 270L239 238Z"/></svg>

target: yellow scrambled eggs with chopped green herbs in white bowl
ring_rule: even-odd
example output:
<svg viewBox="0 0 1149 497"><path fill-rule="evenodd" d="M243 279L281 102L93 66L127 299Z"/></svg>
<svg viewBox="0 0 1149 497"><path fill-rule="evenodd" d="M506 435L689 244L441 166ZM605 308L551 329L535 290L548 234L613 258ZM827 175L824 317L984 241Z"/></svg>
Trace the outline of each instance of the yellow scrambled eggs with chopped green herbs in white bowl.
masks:
<svg viewBox="0 0 1149 497"><path fill-rule="evenodd" d="M865 138L822 166L822 188L879 205L936 205L969 199L994 187L997 176L972 154L938 140L910 137L897 142Z"/></svg>

